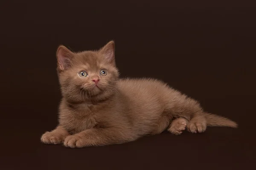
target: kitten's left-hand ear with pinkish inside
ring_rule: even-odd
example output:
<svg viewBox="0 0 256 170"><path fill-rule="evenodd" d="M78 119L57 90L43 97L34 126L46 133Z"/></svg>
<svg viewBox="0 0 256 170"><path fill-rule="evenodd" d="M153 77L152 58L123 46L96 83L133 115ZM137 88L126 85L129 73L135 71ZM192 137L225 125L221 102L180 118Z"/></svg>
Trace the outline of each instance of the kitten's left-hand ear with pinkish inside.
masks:
<svg viewBox="0 0 256 170"><path fill-rule="evenodd" d="M57 65L61 71L67 69L71 65L73 52L69 51L65 46L60 45L57 49Z"/></svg>

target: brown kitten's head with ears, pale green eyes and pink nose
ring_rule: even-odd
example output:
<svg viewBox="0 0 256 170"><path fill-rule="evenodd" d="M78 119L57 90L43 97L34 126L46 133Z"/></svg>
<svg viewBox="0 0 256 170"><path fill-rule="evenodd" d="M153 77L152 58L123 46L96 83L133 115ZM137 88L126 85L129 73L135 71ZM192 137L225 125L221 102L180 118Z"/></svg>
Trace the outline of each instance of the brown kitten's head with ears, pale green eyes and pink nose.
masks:
<svg viewBox="0 0 256 170"><path fill-rule="evenodd" d="M62 95L66 99L77 102L108 98L115 93L119 77L114 42L108 42L98 51L78 53L59 46L57 72Z"/></svg>

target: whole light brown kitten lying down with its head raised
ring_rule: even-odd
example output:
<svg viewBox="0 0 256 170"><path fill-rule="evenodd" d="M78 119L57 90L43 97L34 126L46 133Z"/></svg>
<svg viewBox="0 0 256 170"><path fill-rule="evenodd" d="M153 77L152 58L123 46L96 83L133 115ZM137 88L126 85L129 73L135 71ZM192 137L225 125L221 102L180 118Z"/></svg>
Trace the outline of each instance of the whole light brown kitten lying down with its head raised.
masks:
<svg viewBox="0 0 256 170"><path fill-rule="evenodd" d="M156 79L119 79L114 42L98 51L57 50L62 100L59 124L41 136L45 144L88 147L121 144L168 130L202 133L236 122L203 111L194 99Z"/></svg>

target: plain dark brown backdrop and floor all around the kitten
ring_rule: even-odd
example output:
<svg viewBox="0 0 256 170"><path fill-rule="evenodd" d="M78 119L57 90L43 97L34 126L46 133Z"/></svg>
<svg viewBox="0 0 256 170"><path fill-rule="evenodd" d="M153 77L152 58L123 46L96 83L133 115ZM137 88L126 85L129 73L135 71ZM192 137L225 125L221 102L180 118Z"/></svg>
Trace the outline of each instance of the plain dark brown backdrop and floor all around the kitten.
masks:
<svg viewBox="0 0 256 170"><path fill-rule="evenodd" d="M108 0L0 3L1 170L241 170L255 161L256 6L243 1ZM59 44L116 42L122 77L154 77L239 129L162 133L67 149L40 136L57 124ZM254 164L255 165L255 164Z"/></svg>

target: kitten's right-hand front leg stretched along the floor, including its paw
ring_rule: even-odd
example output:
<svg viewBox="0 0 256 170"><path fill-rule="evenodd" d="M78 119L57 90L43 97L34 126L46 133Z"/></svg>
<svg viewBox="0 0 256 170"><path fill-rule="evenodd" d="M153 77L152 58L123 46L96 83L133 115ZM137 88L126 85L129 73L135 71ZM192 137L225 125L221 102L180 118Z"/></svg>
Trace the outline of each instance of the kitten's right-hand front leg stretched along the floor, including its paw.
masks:
<svg viewBox="0 0 256 170"><path fill-rule="evenodd" d="M66 147L89 147L120 144L137 138L131 133L115 128L92 128L67 136L64 140Z"/></svg>

